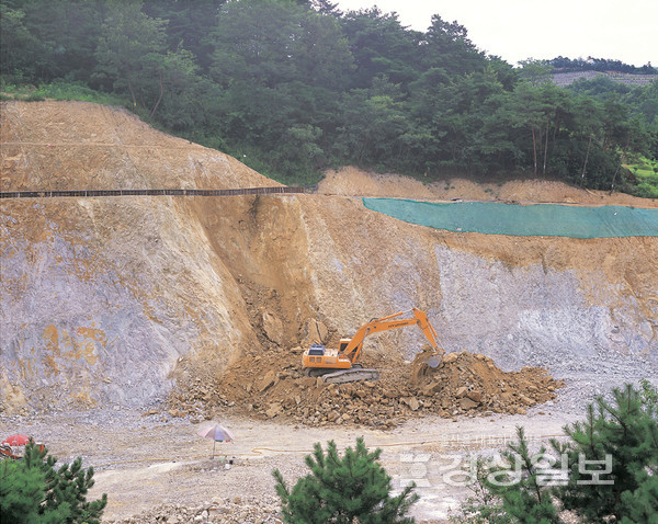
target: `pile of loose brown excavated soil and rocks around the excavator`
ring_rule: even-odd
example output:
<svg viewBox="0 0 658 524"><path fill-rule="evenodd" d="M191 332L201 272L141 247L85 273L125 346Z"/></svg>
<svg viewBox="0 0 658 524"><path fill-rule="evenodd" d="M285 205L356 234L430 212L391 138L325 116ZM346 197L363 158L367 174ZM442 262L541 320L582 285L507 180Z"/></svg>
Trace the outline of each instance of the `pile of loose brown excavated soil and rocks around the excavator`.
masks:
<svg viewBox="0 0 658 524"><path fill-rule="evenodd" d="M230 408L260 419L286 419L307 425L358 424L395 428L434 413L444 418L491 413L524 414L530 406L553 400L564 381L546 369L503 372L492 360L468 352L450 353L431 368L430 351L412 363L364 362L382 371L378 381L326 384L302 373L302 348L243 356L215 380L179 384L169 398L172 415L212 418ZM386 368L383 366L386 365Z"/></svg>

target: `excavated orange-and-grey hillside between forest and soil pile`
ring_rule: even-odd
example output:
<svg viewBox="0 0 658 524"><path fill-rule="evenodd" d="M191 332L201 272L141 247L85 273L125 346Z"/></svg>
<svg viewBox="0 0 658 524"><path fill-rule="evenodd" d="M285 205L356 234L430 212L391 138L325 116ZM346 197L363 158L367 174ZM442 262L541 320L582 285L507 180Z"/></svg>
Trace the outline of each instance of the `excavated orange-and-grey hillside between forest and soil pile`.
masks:
<svg viewBox="0 0 658 524"><path fill-rule="evenodd" d="M1 133L2 191L275 185L93 104L3 102ZM426 198L477 197L466 193L483 187L388 178L382 190L377 179L332 174L316 195L2 201L0 408L143 406L175 379L220 377L243 355L303 344L309 319L336 340L412 306L447 352L481 353L506 371L549 366L572 380L658 374L655 238L432 230L350 195L368 194L359 183ZM495 191L612 203L537 185ZM397 363L423 343L398 330L368 339L365 351Z"/></svg>

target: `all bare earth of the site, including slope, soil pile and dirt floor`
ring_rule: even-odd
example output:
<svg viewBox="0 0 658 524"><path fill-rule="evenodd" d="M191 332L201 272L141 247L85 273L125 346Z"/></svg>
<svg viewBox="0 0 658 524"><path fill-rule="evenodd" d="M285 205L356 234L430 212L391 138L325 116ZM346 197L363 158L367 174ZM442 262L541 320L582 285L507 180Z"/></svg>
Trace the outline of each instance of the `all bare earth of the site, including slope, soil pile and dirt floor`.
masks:
<svg viewBox="0 0 658 524"><path fill-rule="evenodd" d="M277 185L125 110L2 102L2 191ZM469 494L460 468L525 428L533 446L597 394L658 377L658 241L457 233L365 209L362 196L658 207L547 180L432 183L354 168L315 194L7 198L0 203L0 437L78 456L104 522L276 523L315 443L363 436L418 522ZM422 308L420 330L368 338L372 384L300 369L361 323ZM235 441L198 436L218 421ZM230 468L227 468L229 460Z"/></svg>

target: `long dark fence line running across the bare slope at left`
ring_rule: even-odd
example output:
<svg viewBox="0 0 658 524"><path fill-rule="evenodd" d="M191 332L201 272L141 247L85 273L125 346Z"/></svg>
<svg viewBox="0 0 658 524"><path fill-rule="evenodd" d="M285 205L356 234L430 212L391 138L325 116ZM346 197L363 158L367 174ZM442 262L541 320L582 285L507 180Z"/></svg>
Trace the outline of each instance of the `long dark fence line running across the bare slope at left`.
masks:
<svg viewBox="0 0 658 524"><path fill-rule="evenodd" d="M3 191L0 198L50 198L58 196L234 196L305 193L304 187L240 187L236 190L82 190Z"/></svg>

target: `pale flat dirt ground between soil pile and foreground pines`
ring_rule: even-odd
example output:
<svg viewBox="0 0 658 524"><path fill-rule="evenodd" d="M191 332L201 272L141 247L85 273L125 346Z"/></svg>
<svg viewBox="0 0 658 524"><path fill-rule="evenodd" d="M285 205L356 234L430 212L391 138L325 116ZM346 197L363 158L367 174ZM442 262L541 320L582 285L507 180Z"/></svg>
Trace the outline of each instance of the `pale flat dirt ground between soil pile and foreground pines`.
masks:
<svg viewBox="0 0 658 524"><path fill-rule="evenodd" d="M109 504L104 521L126 520L148 513L160 504L196 508L203 504L262 504L274 512L277 498L272 470L279 468L293 485L308 472L304 456L316 442L334 440L339 447L353 445L363 435L368 447L383 449L382 464L399 488L415 480L420 501L413 515L441 520L468 495L451 474L467 464L469 453L492 453L526 428L532 438L561 434L575 415L537 407L525 415L450 419L428 417L409 421L394 431L361 428L307 428L222 417L236 440L217 443L211 459L212 441L196 436L198 424L166 414L134 410L65 412L0 419L0 435L14 432L33 435L47 444L59 464L81 456L93 466L97 485L90 498L105 492ZM148 411L147 411L148 412ZM540 414L543 413L543 414ZM232 459L230 469L224 469ZM146 521L149 522L148 519ZM228 521L227 521L228 522ZM274 522L274 521L272 521Z"/></svg>

